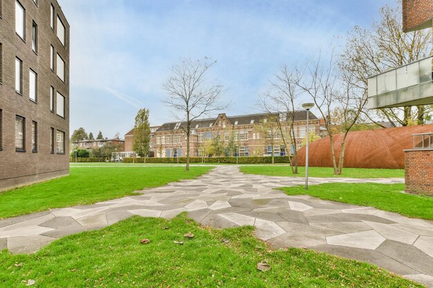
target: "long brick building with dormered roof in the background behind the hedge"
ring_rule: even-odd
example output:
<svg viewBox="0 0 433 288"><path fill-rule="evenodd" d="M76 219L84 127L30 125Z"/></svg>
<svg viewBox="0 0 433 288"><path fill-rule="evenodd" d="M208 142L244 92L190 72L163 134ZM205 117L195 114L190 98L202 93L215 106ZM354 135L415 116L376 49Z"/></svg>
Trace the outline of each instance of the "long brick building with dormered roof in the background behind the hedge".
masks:
<svg viewBox="0 0 433 288"><path fill-rule="evenodd" d="M306 113L307 111L297 111L295 113L295 135L296 145L302 146L302 140L306 135ZM320 120L309 112L310 131L320 134ZM275 117L275 115L273 115ZM286 122L286 116L277 115ZM272 117L271 117L272 118ZM219 137L221 142L228 144L233 141L237 147L235 155L240 156L263 156L263 155L288 155L291 148L286 149L282 142L281 133L275 124L271 123L267 114L252 114L228 117L221 113L216 118L199 119L192 123L190 137L190 155L206 156L208 143L215 137ZM161 125L153 135L152 151L155 157L185 157L186 155L186 135L185 123L168 122ZM283 128L286 133L288 127ZM288 140L288 135L286 135ZM133 139L133 130L125 135L125 141ZM125 148L129 147L125 144ZM131 146L132 147L132 146ZM289 150L289 151L288 151Z"/></svg>

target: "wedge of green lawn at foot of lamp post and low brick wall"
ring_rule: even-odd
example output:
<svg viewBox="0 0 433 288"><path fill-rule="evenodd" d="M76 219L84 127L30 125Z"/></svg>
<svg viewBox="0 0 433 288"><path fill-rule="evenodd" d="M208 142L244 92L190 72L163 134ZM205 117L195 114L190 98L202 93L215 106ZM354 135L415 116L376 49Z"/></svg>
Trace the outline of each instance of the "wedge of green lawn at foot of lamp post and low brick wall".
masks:
<svg viewBox="0 0 433 288"><path fill-rule="evenodd" d="M401 193L404 184L348 184L331 183L308 186L284 187L288 195L311 195L324 200L333 200L400 213L412 218L433 220L433 198Z"/></svg>

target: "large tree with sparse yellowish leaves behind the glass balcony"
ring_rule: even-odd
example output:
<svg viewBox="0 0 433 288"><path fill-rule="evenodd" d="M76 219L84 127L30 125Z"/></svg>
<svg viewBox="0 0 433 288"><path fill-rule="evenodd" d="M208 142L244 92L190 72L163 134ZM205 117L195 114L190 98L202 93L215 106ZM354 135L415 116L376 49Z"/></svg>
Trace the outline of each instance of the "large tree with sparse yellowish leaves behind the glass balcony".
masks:
<svg viewBox="0 0 433 288"><path fill-rule="evenodd" d="M362 94L367 90L368 77L432 54L432 30L403 33L401 3L400 0L396 2L396 8L380 8L381 19L374 22L371 28L356 26L347 35L346 47L338 66L351 74L353 85L360 88ZM423 124L431 112L432 106L362 110L371 122L378 124L375 118L379 117L389 121L392 126Z"/></svg>

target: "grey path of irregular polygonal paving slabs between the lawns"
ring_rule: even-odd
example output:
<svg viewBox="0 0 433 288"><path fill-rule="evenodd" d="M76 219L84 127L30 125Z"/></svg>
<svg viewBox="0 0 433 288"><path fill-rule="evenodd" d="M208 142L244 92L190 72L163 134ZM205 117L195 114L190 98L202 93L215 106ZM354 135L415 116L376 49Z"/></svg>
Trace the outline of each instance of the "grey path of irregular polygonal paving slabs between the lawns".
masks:
<svg viewBox="0 0 433 288"><path fill-rule="evenodd" d="M391 184L403 179L311 178L310 184L330 182ZM196 180L142 195L1 220L0 249L33 253L57 238L131 215L172 218L188 211L212 227L254 225L257 238L276 249L307 247L371 262L433 287L433 222L274 190L299 184L304 184L301 177L245 175L237 166L218 166Z"/></svg>

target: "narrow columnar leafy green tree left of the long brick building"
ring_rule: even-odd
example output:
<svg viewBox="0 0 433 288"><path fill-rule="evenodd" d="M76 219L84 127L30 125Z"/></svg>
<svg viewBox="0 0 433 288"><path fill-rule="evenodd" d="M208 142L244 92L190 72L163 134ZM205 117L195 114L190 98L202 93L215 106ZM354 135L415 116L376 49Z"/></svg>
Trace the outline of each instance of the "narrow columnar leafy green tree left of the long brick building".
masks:
<svg viewBox="0 0 433 288"><path fill-rule="evenodd" d="M150 124L149 109L142 108L136 115L136 124L133 127L133 151L140 157L146 157L150 151Z"/></svg>

